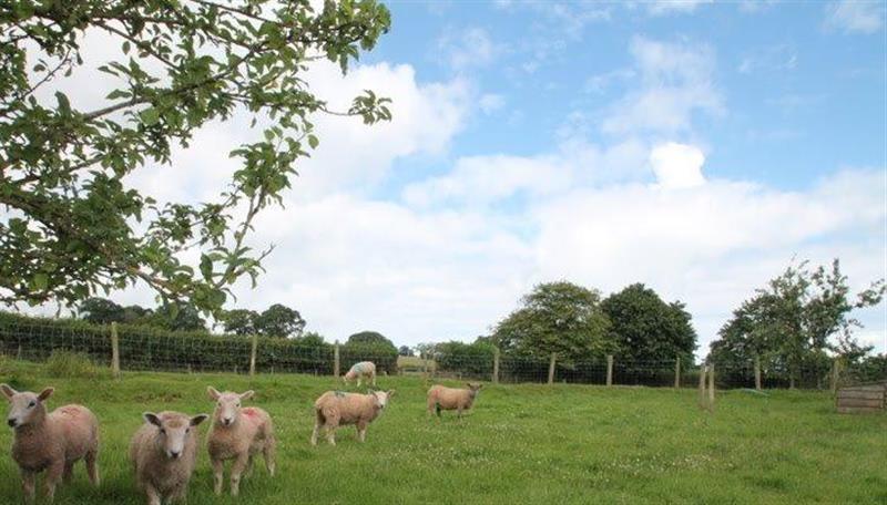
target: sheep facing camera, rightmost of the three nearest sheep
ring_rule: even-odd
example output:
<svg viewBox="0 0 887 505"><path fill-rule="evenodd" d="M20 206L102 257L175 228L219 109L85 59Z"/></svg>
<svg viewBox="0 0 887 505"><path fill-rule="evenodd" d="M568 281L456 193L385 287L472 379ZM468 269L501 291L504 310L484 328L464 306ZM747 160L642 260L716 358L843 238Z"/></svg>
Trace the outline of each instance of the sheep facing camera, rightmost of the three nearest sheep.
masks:
<svg viewBox="0 0 887 505"><path fill-rule="evenodd" d="M239 492L241 474L253 470L253 456L263 453L265 467L274 476L274 456L277 441L274 425L267 412L255 406L241 408L241 401L253 398L253 391L242 394L220 393L215 388L206 388L210 398L216 400L213 425L207 436L210 461L213 464L215 494L222 494L224 464L234 460L231 467L231 494Z"/></svg>

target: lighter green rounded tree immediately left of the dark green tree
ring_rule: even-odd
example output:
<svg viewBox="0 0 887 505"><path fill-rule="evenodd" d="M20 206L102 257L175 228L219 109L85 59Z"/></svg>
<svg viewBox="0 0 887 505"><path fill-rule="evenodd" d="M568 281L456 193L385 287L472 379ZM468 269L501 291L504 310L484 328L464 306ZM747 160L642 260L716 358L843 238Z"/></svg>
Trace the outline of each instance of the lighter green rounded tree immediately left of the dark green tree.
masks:
<svg viewBox="0 0 887 505"><path fill-rule="evenodd" d="M521 299L520 309L500 321L492 333L503 353L562 361L602 357L615 350L610 321L597 290L571 282L537 285Z"/></svg>

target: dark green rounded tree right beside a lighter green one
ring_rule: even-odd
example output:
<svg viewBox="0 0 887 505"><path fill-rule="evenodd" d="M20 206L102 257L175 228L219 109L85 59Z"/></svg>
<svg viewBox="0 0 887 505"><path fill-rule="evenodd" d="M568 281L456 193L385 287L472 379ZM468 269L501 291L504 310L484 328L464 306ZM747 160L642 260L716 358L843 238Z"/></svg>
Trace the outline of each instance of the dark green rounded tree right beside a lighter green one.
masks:
<svg viewBox="0 0 887 505"><path fill-rule="evenodd" d="M610 319L620 361L681 357L684 363L693 362L696 331L683 303L666 303L652 289L633 284L610 295L601 308Z"/></svg>

